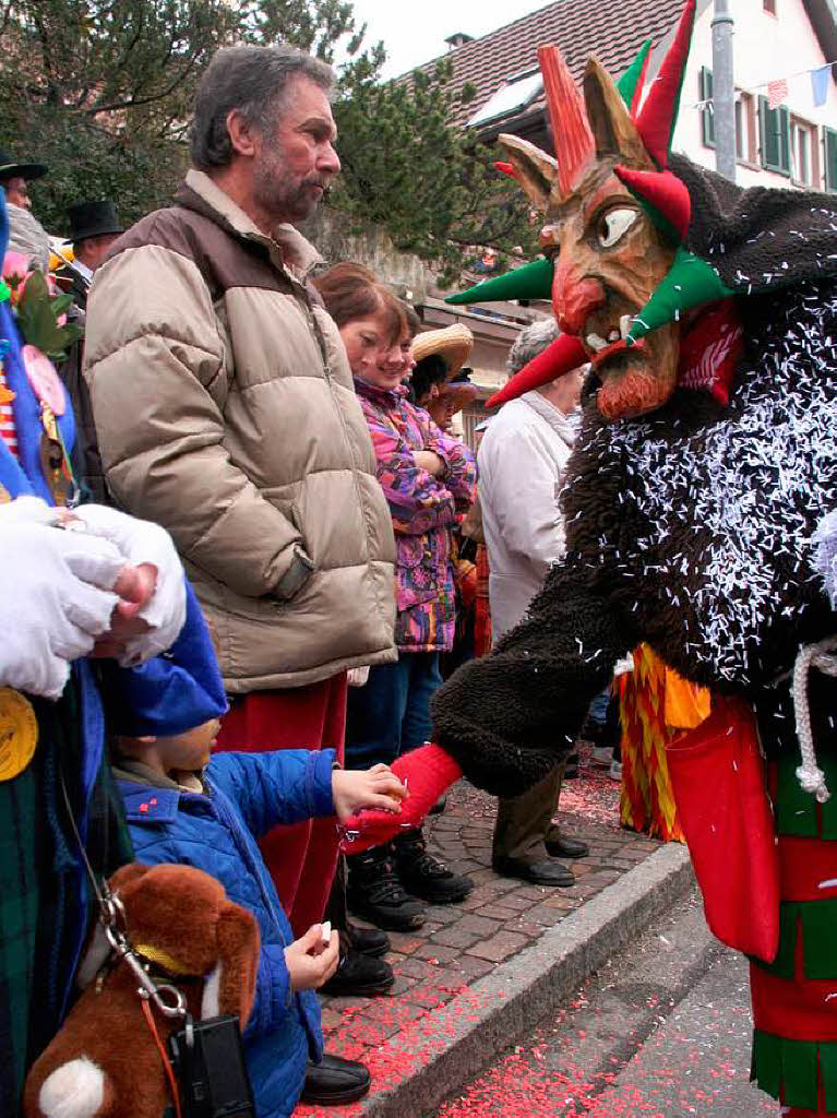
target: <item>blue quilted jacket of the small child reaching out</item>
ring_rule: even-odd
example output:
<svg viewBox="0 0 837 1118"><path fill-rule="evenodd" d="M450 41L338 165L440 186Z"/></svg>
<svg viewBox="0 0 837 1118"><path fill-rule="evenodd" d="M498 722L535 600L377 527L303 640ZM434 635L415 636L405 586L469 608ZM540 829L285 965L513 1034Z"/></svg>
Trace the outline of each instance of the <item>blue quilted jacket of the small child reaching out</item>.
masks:
<svg viewBox="0 0 837 1118"><path fill-rule="evenodd" d="M276 823L332 815L334 762L331 749L219 754L205 773L206 795L118 781L137 862L203 870L258 920L256 1003L244 1034L258 1118L291 1115L323 1040L316 995L291 992L284 949L294 935L256 839Z"/></svg>

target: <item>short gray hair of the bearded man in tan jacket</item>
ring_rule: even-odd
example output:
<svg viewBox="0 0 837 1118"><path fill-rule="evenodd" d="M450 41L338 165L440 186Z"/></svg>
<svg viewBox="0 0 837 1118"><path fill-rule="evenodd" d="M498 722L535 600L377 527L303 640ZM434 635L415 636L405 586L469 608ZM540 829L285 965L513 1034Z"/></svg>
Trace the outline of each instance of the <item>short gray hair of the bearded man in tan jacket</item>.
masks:
<svg viewBox="0 0 837 1118"><path fill-rule="evenodd" d="M201 171L227 167L232 161L229 113L237 108L248 124L268 129L282 94L295 77L306 77L326 93L334 86L331 66L296 47L226 47L216 51L194 98L190 134L193 165Z"/></svg>

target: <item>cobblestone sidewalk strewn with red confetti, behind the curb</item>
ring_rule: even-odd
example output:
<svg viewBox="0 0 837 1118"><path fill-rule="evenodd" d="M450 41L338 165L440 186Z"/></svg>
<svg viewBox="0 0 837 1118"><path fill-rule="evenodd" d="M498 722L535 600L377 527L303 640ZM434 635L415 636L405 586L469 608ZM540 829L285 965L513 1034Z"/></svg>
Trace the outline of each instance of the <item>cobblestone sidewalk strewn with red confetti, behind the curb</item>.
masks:
<svg viewBox="0 0 837 1118"><path fill-rule="evenodd" d="M396 984L382 997L324 997L326 1051L362 1060L375 1081L391 1083L409 1074L403 1053L410 1039L432 1033L431 1017L454 998L463 1014L474 1013L470 986L498 963L534 944L573 909L648 858L659 843L619 826L619 786L607 770L589 764L582 749L581 776L561 792L561 826L590 844L589 858L571 864L572 889L552 889L500 878L491 869L496 800L467 781L451 789L443 815L428 821L430 849L450 869L467 873L474 891L462 904L429 907L416 932L390 932L387 956ZM399 1036L398 1065L381 1045ZM388 1045L391 1051L391 1045ZM359 1114L360 1107L304 1107L295 1115ZM408 1116L406 1116L408 1118Z"/></svg>

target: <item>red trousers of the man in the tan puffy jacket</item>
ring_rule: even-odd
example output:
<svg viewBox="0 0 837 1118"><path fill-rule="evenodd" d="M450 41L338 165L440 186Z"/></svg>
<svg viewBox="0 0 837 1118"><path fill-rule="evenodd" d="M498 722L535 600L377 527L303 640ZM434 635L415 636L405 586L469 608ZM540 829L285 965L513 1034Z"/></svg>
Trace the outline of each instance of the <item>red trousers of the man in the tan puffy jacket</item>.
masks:
<svg viewBox="0 0 837 1118"><path fill-rule="evenodd" d="M253 691L236 699L221 723L218 749L260 754L269 749L336 749L343 762L346 673L287 691ZM259 842L294 935L325 911L337 865L334 818L276 826Z"/></svg>

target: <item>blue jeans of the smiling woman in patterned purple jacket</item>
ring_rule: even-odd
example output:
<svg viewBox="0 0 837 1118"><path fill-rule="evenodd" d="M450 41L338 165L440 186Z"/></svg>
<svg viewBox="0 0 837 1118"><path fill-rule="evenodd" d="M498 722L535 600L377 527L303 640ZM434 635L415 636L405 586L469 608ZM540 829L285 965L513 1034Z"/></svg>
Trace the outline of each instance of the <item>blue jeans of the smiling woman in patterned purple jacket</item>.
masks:
<svg viewBox="0 0 837 1118"><path fill-rule="evenodd" d="M400 652L394 664L369 670L365 686L349 688L345 764L391 765L430 739L430 699L441 685L438 652Z"/></svg>

